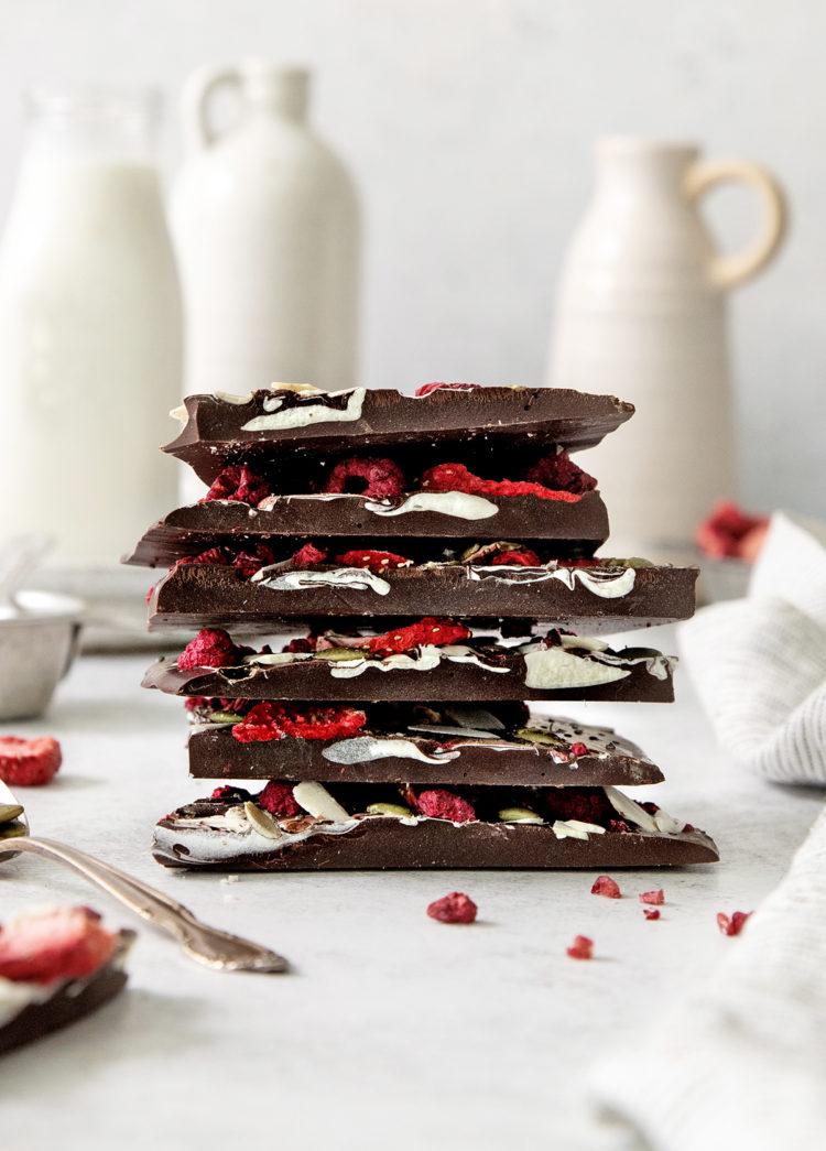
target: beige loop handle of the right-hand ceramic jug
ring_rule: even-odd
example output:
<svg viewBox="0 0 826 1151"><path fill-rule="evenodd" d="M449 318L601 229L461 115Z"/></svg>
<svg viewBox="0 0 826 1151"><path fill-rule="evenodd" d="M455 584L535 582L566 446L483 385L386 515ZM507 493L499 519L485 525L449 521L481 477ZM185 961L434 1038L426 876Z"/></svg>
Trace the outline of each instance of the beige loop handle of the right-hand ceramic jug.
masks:
<svg viewBox="0 0 826 1151"><path fill-rule="evenodd" d="M754 188L764 204L760 229L752 242L732 256L716 256L711 277L718 288L744 283L768 264L786 233L786 197L777 180L751 160L697 160L688 169L686 192L694 203L717 184L740 181Z"/></svg>

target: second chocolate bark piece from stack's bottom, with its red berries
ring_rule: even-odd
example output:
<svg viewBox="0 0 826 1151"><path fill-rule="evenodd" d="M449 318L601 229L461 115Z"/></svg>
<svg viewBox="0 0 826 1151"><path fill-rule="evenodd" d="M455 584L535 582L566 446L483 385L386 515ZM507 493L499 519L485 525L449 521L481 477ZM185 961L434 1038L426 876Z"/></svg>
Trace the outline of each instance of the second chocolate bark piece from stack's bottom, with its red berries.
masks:
<svg viewBox="0 0 826 1151"><path fill-rule="evenodd" d="M531 715L522 704L191 702L196 779L557 787L663 779L612 729Z"/></svg>

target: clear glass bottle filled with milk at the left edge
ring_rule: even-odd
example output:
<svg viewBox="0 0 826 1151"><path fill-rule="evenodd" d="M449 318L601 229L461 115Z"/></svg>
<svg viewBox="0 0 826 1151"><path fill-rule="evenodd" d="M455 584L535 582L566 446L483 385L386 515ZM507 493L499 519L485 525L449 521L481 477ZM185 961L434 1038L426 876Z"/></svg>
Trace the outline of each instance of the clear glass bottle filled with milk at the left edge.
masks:
<svg viewBox="0 0 826 1151"><path fill-rule="evenodd" d="M115 564L175 503L181 302L150 91L32 91L0 247L0 535Z"/></svg>

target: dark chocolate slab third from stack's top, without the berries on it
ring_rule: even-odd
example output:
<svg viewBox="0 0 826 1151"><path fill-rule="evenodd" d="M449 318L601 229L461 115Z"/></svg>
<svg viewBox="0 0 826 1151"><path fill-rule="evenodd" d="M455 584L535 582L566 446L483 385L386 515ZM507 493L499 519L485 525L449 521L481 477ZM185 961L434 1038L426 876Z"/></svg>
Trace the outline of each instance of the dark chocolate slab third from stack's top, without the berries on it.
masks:
<svg viewBox="0 0 826 1151"><path fill-rule="evenodd" d="M181 564L150 599L150 630L224 627L245 633L311 631L359 616L458 615L525 619L602 634L648 627L694 612L696 567L598 567L433 564L381 574L322 564L276 565L251 580L234 567Z"/></svg>

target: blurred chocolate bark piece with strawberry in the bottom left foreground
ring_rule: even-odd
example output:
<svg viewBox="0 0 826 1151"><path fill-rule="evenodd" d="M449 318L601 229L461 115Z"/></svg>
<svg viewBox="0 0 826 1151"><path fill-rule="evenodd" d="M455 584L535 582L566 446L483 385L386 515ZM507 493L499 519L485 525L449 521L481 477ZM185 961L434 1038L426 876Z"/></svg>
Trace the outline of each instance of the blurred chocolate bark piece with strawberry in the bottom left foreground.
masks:
<svg viewBox="0 0 826 1151"><path fill-rule="evenodd" d="M107 932L86 907L37 908L0 930L0 1053L74 1023L127 983L133 931Z"/></svg>

